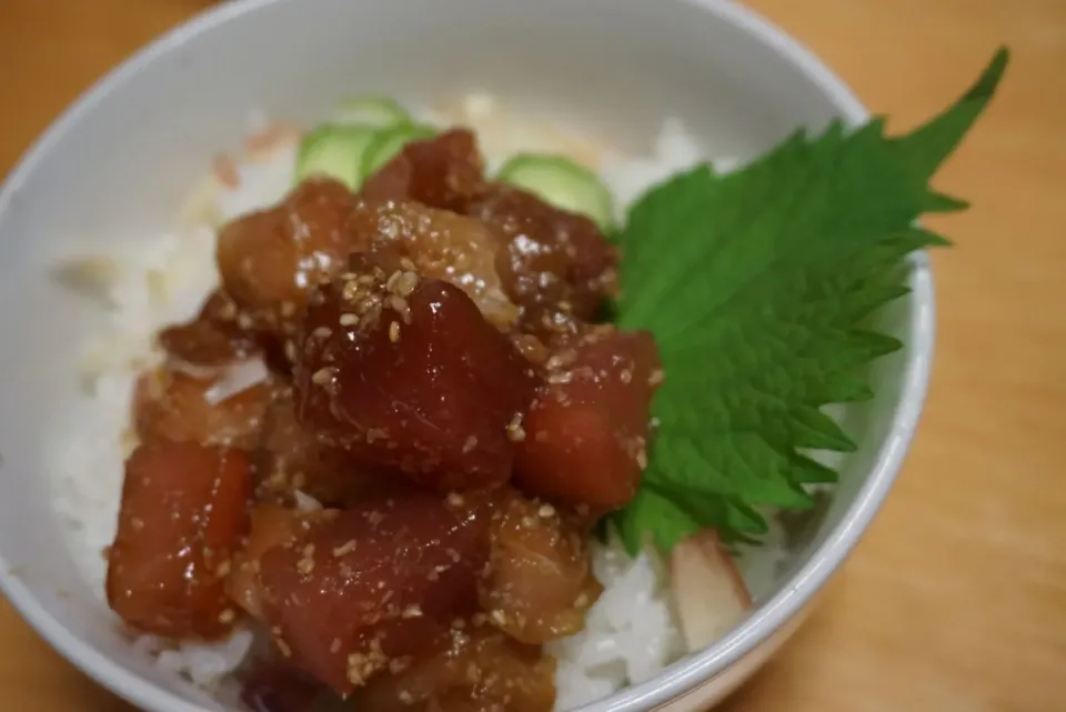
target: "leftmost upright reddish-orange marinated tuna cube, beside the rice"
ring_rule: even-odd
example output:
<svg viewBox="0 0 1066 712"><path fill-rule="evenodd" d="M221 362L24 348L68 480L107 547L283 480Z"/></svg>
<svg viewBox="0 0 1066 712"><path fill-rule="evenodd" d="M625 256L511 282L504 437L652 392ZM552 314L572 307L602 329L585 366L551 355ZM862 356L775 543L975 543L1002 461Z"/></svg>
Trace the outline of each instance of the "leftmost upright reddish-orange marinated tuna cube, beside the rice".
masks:
<svg viewBox="0 0 1066 712"><path fill-rule="evenodd" d="M141 445L125 463L108 603L131 628L217 639L237 612L223 576L248 530L243 452L195 443Z"/></svg>

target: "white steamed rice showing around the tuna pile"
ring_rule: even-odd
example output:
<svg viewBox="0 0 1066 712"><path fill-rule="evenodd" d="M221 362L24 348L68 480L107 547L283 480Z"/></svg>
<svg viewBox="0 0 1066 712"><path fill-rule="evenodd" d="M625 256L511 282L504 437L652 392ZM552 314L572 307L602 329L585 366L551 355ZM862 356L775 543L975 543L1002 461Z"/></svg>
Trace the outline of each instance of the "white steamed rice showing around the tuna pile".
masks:
<svg viewBox="0 0 1066 712"><path fill-rule="evenodd" d="M472 97L459 108L438 109L432 118L473 126L490 167L514 150L569 153L599 168L621 205L648 184L704 158L698 144L674 120L664 123L650 156L624 158L554 129L511 117L503 121L486 97ZM262 122L259 117L254 120L254 124ZM215 285L214 225L280 199L291 184L293 151L288 146L269 157L239 162L239 185L228 189L207 181L173 232L150 235L135 249L122 250L103 262L99 258L86 261L74 270L81 270L82 281L100 282L95 287L109 304L109 324L107 333L86 352L84 392L54 440L64 447L56 451L53 499L69 525L69 544L82 573L101 598L105 573L101 552L111 543L118 518L133 379L157 358L151 351L153 333L165 323L192 317ZM590 611L586 629L550 646L559 660L559 710L647 680L683 652L662 562L648 553L631 559L612 541L597 545L594 566L604 593ZM747 570L745 574L754 583L752 579L772 578L773 571ZM135 644L157 654L161 668L194 684L215 688L241 664L252 635L239 631L217 644L178 646L142 636Z"/></svg>

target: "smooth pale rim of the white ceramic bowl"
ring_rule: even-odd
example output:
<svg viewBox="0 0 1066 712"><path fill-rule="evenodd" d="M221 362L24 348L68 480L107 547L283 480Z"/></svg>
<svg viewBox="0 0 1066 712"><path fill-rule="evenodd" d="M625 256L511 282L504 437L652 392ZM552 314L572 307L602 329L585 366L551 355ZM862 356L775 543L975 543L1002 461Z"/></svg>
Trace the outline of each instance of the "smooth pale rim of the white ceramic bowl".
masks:
<svg viewBox="0 0 1066 712"><path fill-rule="evenodd" d="M53 146L97 103L104 101L140 69L193 37L245 14L286 0L237 0L209 8L164 32L98 79L71 103L26 151L0 185L0 213L8 210L21 185ZM798 40L734 0L674 0L715 16L736 31L762 43L783 62L819 87L844 121L859 124L869 113L854 92ZM899 403L869 472L841 523L793 576L741 625L713 645L675 662L654 678L574 710L573 712L642 712L653 710L695 690L724 672L802 611L847 558L881 509L906 457L925 403L935 341L936 307L928 255L909 258L909 300L913 315L907 328L908 359L904 367ZM127 701L155 712L203 712L204 708L162 689L127 670L93 645L80 640L52 616L12 571L0 552L0 591L21 616L58 652L97 683Z"/></svg>

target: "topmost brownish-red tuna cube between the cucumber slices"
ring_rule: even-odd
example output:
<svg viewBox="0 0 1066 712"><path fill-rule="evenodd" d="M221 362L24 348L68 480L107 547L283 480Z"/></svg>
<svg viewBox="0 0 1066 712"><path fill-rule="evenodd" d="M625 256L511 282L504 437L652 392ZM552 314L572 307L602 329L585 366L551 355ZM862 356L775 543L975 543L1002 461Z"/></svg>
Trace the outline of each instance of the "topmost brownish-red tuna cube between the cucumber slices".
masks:
<svg viewBox="0 0 1066 712"><path fill-rule="evenodd" d="M368 202L414 200L461 211L484 182L484 164L470 131L455 129L413 141L366 179L359 197Z"/></svg>

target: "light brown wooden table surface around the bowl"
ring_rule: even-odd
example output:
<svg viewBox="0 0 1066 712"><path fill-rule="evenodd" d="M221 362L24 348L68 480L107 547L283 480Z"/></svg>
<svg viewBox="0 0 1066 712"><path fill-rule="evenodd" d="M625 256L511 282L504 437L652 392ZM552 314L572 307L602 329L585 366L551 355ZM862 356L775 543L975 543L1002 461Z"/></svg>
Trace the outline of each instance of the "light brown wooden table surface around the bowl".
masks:
<svg viewBox="0 0 1066 712"><path fill-rule="evenodd" d="M354 1L354 0L353 0ZM207 0L0 0L0 172L99 74ZM1007 42L938 183L932 392L898 487L728 712L1066 710L1066 0L752 0L906 128ZM933 222L933 221L931 221ZM0 709L125 711L0 604Z"/></svg>

